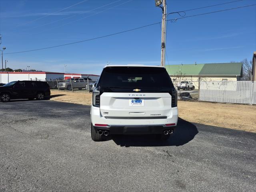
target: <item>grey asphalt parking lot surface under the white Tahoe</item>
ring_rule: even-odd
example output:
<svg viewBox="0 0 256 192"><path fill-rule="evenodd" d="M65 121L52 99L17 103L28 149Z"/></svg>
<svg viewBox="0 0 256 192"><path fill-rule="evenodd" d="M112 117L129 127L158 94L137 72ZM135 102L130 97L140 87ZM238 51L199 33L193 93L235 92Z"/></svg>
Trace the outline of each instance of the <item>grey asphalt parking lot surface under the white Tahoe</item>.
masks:
<svg viewBox="0 0 256 192"><path fill-rule="evenodd" d="M166 142L93 142L90 107L0 103L0 192L255 191L256 134L180 119Z"/></svg>

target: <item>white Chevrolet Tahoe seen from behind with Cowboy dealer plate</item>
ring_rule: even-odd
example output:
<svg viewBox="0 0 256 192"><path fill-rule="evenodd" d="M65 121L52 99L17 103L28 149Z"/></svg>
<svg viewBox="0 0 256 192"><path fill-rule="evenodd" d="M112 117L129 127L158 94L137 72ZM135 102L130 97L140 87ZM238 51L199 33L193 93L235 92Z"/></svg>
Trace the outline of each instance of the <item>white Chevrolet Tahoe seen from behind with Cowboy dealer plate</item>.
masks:
<svg viewBox="0 0 256 192"><path fill-rule="evenodd" d="M93 90L92 140L109 134L159 134L178 122L177 91L162 66L107 65Z"/></svg>

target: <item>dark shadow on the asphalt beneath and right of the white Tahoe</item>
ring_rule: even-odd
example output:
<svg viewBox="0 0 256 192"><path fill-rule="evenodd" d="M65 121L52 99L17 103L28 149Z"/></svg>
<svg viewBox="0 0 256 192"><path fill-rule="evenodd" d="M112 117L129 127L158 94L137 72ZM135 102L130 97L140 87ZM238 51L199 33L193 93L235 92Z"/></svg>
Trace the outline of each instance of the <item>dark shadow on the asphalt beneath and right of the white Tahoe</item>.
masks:
<svg viewBox="0 0 256 192"><path fill-rule="evenodd" d="M180 146L193 140L196 134L198 130L194 124L179 118L176 130L166 141L158 140L156 135L113 135L112 140L121 147Z"/></svg>

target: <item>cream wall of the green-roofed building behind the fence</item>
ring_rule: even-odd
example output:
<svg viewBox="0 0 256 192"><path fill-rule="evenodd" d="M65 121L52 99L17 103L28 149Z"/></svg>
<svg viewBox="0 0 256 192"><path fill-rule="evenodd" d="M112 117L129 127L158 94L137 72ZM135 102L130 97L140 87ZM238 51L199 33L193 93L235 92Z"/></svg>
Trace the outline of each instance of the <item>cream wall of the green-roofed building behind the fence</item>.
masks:
<svg viewBox="0 0 256 192"><path fill-rule="evenodd" d="M222 81L222 80L227 80L227 81L237 81L237 77L236 76L182 76L177 77L177 76L170 76L170 78L172 79L174 86L177 86L178 82L180 81L192 81L195 88L198 89L198 82L199 82L199 78L201 79L201 81Z"/></svg>

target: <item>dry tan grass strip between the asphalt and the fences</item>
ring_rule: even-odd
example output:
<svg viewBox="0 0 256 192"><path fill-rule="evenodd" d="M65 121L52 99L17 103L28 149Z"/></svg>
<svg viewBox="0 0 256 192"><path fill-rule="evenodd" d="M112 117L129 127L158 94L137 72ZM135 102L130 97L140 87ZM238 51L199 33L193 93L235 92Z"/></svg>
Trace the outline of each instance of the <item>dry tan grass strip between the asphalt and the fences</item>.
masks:
<svg viewBox="0 0 256 192"><path fill-rule="evenodd" d="M92 94L51 91L51 100L90 105ZM256 106L178 101L179 117L189 122L256 132Z"/></svg>

